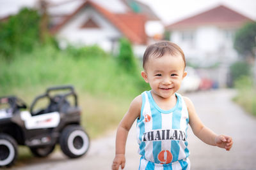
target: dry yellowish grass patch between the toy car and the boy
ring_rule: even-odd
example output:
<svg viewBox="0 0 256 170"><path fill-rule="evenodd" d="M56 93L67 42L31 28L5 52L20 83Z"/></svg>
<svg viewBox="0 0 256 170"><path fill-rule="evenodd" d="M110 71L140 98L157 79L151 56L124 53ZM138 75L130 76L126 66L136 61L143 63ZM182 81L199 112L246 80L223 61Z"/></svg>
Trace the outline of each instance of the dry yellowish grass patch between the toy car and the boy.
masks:
<svg viewBox="0 0 256 170"><path fill-rule="evenodd" d="M81 99L84 111L82 122L90 137L98 137L102 132L116 128L129 107L128 99L111 99L84 95Z"/></svg>

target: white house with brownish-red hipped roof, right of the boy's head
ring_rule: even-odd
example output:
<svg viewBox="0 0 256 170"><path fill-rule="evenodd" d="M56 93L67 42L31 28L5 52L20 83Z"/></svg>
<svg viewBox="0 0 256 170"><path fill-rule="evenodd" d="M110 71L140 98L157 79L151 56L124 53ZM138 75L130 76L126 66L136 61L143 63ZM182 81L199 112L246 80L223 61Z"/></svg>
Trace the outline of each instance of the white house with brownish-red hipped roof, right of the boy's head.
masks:
<svg viewBox="0 0 256 170"><path fill-rule="evenodd" d="M170 40L180 45L187 61L193 66L215 67L204 69L202 76L226 86L228 67L238 59L233 48L234 35L248 17L227 6L219 5L189 18L166 26Z"/></svg>

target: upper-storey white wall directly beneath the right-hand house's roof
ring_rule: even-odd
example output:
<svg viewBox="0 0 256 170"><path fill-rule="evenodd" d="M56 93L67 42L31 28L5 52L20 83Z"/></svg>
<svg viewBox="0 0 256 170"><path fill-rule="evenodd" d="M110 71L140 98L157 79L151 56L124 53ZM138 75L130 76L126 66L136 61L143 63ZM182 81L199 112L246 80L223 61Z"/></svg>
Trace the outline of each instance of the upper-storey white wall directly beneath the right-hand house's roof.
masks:
<svg viewBox="0 0 256 170"><path fill-rule="evenodd" d="M177 43L188 60L211 65L214 62L234 62L237 53L233 48L235 29L205 25L193 29L172 30L170 40Z"/></svg>

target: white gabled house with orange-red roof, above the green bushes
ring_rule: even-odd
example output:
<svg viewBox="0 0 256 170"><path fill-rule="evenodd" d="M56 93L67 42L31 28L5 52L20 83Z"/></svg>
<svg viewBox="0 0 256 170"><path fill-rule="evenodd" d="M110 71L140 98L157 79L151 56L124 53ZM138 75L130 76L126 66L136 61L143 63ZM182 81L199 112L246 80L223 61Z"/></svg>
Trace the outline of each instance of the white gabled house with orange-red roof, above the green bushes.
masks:
<svg viewBox="0 0 256 170"><path fill-rule="evenodd" d="M115 52L118 39L125 37L134 45L136 55L142 56L148 38L154 36L147 34L147 22L159 22L147 5L132 0L80 1L71 13L65 15L60 15L56 8L58 6L49 9L51 33L63 47L68 43L97 44L106 51Z"/></svg>

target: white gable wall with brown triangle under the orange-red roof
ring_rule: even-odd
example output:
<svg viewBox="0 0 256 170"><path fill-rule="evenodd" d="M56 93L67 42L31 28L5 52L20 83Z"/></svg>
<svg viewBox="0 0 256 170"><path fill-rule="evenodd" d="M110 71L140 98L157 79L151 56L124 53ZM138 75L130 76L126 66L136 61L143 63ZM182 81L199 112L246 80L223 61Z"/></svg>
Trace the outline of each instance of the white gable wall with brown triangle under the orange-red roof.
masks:
<svg viewBox="0 0 256 170"><path fill-rule="evenodd" d="M81 28L90 18L99 25L99 28ZM120 36L122 36L121 32L90 6L79 11L57 34L57 38L61 41L60 44L64 46L65 43L72 43L73 45L97 44L106 51L111 50L112 40Z"/></svg>

